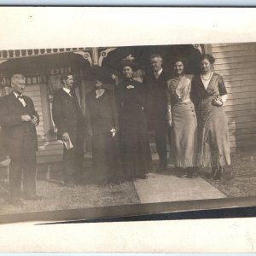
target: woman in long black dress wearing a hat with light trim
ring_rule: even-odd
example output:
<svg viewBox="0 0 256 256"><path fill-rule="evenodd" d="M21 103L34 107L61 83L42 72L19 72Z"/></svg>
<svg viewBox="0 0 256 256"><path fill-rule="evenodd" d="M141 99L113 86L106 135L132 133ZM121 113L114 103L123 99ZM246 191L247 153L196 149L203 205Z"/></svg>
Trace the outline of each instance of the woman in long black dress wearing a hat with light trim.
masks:
<svg viewBox="0 0 256 256"><path fill-rule="evenodd" d="M135 65L121 63L124 80L115 90L119 109L120 151L126 180L147 178L152 170L148 127L144 113L144 86L132 78Z"/></svg>

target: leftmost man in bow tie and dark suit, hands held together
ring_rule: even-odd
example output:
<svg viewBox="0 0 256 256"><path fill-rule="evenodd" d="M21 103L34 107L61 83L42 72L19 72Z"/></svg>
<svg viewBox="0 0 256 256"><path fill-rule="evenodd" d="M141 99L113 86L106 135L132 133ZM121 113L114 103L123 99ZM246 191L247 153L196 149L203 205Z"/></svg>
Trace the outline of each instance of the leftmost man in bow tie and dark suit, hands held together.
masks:
<svg viewBox="0 0 256 256"><path fill-rule="evenodd" d="M22 206L20 200L37 200L36 195L36 150L38 148L35 126L39 116L32 99L23 96L26 79L22 74L11 78L13 91L0 98L0 125L6 154L10 157L9 189L10 202ZM23 177L23 178L22 178ZM21 194L23 180L23 195Z"/></svg>

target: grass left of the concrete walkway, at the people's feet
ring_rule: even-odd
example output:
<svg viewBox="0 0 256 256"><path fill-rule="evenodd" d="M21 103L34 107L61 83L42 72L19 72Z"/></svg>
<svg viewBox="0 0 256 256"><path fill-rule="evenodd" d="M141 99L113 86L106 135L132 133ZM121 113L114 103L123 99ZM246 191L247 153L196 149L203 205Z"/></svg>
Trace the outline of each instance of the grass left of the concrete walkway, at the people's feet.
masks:
<svg viewBox="0 0 256 256"><path fill-rule="evenodd" d="M41 201L24 201L24 207L14 207L8 202L8 186L0 183L0 215L20 212L44 212L62 209L89 207L109 207L140 203L134 184L131 182L119 185L79 184L75 188L67 188L55 180L38 180L38 195Z"/></svg>

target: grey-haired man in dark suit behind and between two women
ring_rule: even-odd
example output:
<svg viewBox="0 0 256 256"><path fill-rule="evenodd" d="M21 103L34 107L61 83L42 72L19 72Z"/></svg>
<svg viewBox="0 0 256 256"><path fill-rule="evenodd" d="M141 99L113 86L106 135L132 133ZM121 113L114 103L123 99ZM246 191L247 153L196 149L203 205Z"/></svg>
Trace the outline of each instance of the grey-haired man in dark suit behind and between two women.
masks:
<svg viewBox="0 0 256 256"><path fill-rule="evenodd" d="M163 59L160 55L151 55L152 72L145 79L148 127L149 130L154 131L156 150L160 157L160 166L157 172L167 170L166 82L170 79L170 74L163 69L162 63Z"/></svg>

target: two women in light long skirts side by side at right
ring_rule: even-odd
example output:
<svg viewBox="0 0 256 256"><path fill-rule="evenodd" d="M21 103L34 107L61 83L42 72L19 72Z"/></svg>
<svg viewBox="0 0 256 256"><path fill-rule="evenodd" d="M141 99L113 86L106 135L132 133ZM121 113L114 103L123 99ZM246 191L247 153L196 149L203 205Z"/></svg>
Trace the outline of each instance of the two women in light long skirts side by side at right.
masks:
<svg viewBox="0 0 256 256"><path fill-rule="evenodd" d="M174 61L175 77L167 81L167 120L172 126L170 161L182 177L197 177L199 167L212 167L219 179L230 165L230 142L224 102L224 79L212 71L212 55L201 55L201 73L184 72L187 61Z"/></svg>

